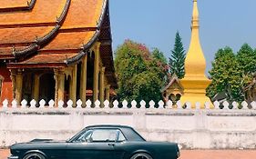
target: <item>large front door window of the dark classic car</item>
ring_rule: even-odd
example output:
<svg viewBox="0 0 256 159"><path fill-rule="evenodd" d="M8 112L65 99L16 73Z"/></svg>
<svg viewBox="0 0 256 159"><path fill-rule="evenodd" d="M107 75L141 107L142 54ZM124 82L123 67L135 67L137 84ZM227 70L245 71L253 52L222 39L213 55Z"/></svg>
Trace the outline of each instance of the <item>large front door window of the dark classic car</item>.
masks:
<svg viewBox="0 0 256 159"><path fill-rule="evenodd" d="M91 140L92 142L115 142L116 137L116 129L95 129L91 135Z"/></svg>

